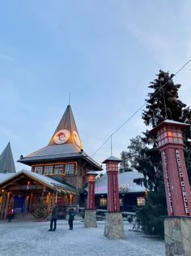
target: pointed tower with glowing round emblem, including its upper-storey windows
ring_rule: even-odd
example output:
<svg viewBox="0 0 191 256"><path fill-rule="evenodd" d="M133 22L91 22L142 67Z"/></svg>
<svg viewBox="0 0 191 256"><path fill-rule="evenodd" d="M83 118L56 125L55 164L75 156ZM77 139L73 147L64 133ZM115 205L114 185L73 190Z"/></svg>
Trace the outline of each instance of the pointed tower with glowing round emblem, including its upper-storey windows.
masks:
<svg viewBox="0 0 191 256"><path fill-rule="evenodd" d="M28 164L32 171L66 181L77 189L85 184L88 171L102 170L100 164L83 151L70 105L66 107L49 144L25 157L21 155L18 162Z"/></svg>

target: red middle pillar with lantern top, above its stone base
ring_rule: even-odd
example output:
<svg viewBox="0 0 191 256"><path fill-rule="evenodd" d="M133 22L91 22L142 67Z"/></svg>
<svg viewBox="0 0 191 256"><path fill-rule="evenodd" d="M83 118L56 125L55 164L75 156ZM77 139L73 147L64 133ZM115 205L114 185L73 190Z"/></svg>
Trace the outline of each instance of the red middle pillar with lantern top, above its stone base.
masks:
<svg viewBox="0 0 191 256"><path fill-rule="evenodd" d="M108 175L108 212L119 212L118 163L121 160L113 156L104 160Z"/></svg>

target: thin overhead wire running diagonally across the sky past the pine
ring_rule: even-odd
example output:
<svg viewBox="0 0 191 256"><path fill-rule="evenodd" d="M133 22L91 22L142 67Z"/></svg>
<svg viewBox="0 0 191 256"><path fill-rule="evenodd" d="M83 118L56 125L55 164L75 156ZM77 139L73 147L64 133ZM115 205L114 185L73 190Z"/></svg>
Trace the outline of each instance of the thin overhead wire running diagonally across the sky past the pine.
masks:
<svg viewBox="0 0 191 256"><path fill-rule="evenodd" d="M159 91L160 91L161 89L163 89L163 87L164 87L165 85L168 84L168 81L169 81L169 80L172 80L172 78L175 77L185 66L187 66L190 61L191 61L191 59L189 59L182 67L180 67L180 69L179 69L175 74L173 74L172 77L169 78L169 79L166 81L166 83L164 83L163 86L161 86L161 87L159 88L159 90L158 90L157 92L155 92L155 93L152 95L151 98L154 98L155 95L157 95L157 94L159 93ZM91 154L91 157L94 156L94 155L105 145L105 143L108 142L108 140L109 140L116 132L118 132L127 122L129 122L129 120L132 119L132 118L134 117L134 115L136 115L136 114L142 109L143 106L146 106L146 102L145 102L144 104L142 104L142 106L140 106L140 107L138 108L138 110L134 112L134 114L130 115L129 118L128 118L123 124L121 124L121 126L120 126L119 128L117 128L117 130L116 130L115 132L112 132L112 134L107 138L106 141L104 141L104 143L103 143L102 145L100 145L100 147L94 152L94 154Z"/></svg>

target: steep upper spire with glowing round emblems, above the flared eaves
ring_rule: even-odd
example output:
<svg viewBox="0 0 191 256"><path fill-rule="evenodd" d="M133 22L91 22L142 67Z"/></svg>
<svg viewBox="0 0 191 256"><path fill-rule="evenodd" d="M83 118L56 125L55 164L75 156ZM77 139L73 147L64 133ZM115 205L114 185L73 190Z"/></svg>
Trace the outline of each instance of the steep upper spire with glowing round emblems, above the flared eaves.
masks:
<svg viewBox="0 0 191 256"><path fill-rule="evenodd" d="M73 143L82 150L83 145L79 138L79 132L74 121L71 106L68 105L60 123L57 125L49 145L61 145Z"/></svg>

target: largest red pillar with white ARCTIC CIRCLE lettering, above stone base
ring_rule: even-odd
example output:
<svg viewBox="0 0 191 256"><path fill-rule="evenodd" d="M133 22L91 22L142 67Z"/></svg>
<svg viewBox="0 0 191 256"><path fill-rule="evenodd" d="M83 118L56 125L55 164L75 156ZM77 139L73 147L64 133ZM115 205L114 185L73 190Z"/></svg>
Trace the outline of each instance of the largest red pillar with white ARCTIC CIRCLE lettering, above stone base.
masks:
<svg viewBox="0 0 191 256"><path fill-rule="evenodd" d="M188 126L166 120L151 130L157 132L169 216L191 215L191 192L182 138L182 129Z"/></svg>

